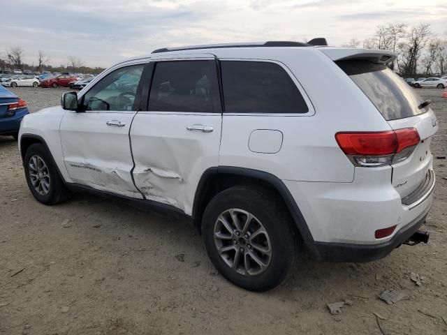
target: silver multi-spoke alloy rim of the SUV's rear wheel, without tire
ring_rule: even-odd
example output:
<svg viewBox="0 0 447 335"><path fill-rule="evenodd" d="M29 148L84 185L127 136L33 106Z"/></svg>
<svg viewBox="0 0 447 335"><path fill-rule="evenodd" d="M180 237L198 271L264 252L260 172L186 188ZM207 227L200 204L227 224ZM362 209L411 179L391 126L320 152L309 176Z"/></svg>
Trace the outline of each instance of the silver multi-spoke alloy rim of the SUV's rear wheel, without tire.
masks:
<svg viewBox="0 0 447 335"><path fill-rule="evenodd" d="M228 209L214 224L214 243L228 267L244 276L263 273L272 259L272 244L263 224L243 209Z"/></svg>

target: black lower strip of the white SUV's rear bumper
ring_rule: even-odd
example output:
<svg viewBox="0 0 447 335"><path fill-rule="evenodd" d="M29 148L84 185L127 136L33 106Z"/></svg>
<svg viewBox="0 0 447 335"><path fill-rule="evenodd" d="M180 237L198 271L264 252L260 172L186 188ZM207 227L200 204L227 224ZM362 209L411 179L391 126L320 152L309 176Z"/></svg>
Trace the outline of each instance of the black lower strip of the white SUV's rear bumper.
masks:
<svg viewBox="0 0 447 335"><path fill-rule="evenodd" d="M371 262L380 260L391 253L425 223L426 212L399 230L392 239L380 244L344 244L330 242L314 242L309 249L314 258L327 262Z"/></svg>

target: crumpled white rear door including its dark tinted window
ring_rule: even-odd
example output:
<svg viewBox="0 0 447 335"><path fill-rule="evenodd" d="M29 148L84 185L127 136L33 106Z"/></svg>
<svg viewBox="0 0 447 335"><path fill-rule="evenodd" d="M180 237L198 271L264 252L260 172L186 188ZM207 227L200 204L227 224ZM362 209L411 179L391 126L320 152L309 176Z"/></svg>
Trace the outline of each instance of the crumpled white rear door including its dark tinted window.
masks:
<svg viewBox="0 0 447 335"><path fill-rule="evenodd" d="M131 128L136 186L191 214L198 181L219 165L221 103L212 54L156 59L147 111Z"/></svg>

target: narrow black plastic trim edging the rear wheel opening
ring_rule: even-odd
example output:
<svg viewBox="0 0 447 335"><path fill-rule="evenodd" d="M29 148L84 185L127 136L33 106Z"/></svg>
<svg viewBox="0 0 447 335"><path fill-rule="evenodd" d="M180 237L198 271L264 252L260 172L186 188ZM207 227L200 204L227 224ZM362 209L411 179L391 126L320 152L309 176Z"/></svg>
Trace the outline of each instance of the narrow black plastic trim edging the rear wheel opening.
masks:
<svg viewBox="0 0 447 335"><path fill-rule="evenodd" d="M284 199L284 202L286 203L286 206L291 213L293 221L297 225L297 228L300 231L302 239L305 241L307 249L311 253L314 253L314 251L312 250L314 238L312 237L312 234L309 228L307 227L305 218L302 216L302 213L298 208L298 205L296 204L290 191L288 191L288 188L286 187L286 185L284 185L281 179L268 172L248 168L236 168L233 166L219 166L218 168L207 169L205 172L203 172L203 175L200 178L196 190L196 195L194 196L193 218L198 217L198 210L200 209L201 201L203 201L203 194L202 194L203 190L205 190L205 185L210 181L210 177L212 177L212 175L214 174L233 174L237 176L252 177L256 179L262 179L263 181L267 181L268 184L274 187L276 191L279 193L279 195L281 195L281 197Z"/></svg>

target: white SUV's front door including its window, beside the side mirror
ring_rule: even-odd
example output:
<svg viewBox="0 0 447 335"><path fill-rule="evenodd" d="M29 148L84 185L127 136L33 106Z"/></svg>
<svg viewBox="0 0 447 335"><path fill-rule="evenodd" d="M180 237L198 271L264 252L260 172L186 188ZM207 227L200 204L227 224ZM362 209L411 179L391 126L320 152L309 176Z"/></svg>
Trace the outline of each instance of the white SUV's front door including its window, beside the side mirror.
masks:
<svg viewBox="0 0 447 335"><path fill-rule="evenodd" d="M129 130L144 64L112 70L83 96L85 112L68 111L60 132L64 161L76 184L142 198L131 177ZM119 83L126 82L126 85Z"/></svg>

